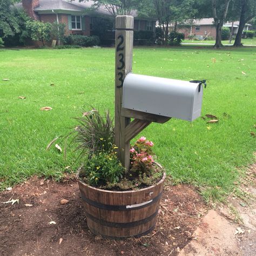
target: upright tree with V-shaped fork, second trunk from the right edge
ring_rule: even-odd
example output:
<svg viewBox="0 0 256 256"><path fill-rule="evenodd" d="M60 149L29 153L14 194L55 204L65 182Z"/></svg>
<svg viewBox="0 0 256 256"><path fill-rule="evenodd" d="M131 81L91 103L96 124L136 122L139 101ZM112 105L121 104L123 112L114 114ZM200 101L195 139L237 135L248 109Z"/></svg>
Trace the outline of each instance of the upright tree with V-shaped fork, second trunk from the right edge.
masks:
<svg viewBox="0 0 256 256"><path fill-rule="evenodd" d="M224 22L226 21L228 5L231 0L211 0L212 4L212 15L216 27L216 41L214 48L220 48L223 46L221 43L221 29Z"/></svg>

